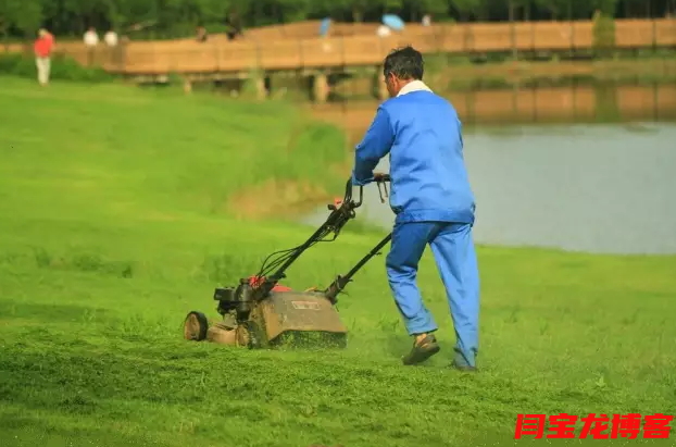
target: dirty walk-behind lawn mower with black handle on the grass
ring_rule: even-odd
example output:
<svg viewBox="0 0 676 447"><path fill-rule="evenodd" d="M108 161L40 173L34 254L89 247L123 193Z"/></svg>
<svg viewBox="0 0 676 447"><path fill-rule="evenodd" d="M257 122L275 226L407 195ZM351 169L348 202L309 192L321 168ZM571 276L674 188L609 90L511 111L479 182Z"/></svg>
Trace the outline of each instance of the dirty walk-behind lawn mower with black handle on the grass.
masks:
<svg viewBox="0 0 676 447"><path fill-rule="evenodd" d="M374 178L385 202L387 174ZM383 189L381 189L383 187ZM337 275L324 290L316 287L303 291L279 284L285 272L310 247L321 241L336 240L342 227L355 218L354 210L362 204L363 186L359 187L359 201L352 200L352 181L348 179L342 200L328 206L330 214L305 243L291 249L276 251L263 262L258 274L239 280L233 287L216 287L213 298L218 301L216 311L223 318L210 324L206 316L191 311L184 322L187 340L209 340L223 345L243 346L249 349L278 346L347 346L348 330L340 321L336 305L338 295L352 281L354 274L387 245L388 234L346 275ZM333 233L333 238L328 238Z"/></svg>

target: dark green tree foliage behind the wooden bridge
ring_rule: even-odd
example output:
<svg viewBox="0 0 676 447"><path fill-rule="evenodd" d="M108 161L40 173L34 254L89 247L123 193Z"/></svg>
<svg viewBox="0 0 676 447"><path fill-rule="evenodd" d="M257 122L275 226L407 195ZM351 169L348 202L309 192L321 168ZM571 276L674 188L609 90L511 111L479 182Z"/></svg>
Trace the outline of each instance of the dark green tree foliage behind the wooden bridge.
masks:
<svg viewBox="0 0 676 447"><path fill-rule="evenodd" d="M176 37L193 33L200 24L218 32L231 11L251 27L326 16L376 22L384 13L409 22L424 14L437 22L589 20L596 10L609 17L660 16L671 4L671 0L0 0L0 36L33 37L40 26L77 36L89 26L126 32L134 24L146 24L152 37Z"/></svg>

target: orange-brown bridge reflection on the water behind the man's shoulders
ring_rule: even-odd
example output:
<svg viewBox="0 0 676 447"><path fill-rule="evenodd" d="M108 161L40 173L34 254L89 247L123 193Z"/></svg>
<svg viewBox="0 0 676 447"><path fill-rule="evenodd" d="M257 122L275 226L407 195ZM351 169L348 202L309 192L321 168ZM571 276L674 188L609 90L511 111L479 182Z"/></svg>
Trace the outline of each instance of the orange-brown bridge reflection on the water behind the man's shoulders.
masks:
<svg viewBox="0 0 676 447"><path fill-rule="evenodd" d="M433 84L433 83L430 83ZM449 98L472 128L552 124L631 124L676 121L676 84L573 84L542 87L434 90ZM349 98L325 104L304 103L310 115L338 126L353 146L373 120L380 101Z"/></svg>

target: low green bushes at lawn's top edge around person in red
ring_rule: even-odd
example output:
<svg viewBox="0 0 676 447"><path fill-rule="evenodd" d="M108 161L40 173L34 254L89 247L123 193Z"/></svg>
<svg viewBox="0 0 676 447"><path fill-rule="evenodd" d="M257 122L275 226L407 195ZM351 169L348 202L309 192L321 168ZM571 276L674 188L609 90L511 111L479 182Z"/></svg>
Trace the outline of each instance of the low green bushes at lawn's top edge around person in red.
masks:
<svg viewBox="0 0 676 447"><path fill-rule="evenodd" d="M0 74L34 78L37 76L35 59L26 54L0 54ZM78 83L102 83L113 76L99 67L85 67L63 54L54 54L51 60L51 79Z"/></svg>

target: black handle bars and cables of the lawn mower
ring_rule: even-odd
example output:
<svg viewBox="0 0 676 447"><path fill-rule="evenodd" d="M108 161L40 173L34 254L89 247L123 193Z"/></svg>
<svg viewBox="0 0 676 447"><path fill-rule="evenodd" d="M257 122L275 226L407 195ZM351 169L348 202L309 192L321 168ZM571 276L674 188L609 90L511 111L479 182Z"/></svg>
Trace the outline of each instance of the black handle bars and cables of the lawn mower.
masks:
<svg viewBox="0 0 676 447"><path fill-rule="evenodd" d="M388 174L378 173L374 175L374 182L378 184L378 191L380 191L380 184L390 182L390 176ZM387 194L387 188L385 188L385 190ZM273 252L265 259L265 261L263 262L263 265L261 266L261 270L259 271L256 275L259 278L263 280L259 284L259 286L255 287L254 294L255 294L256 299L263 299L264 297L266 297L267 294L270 294L273 287L277 284L277 282L286 277L285 271L306 249L309 249L310 247L314 246L317 243L330 243L333 240L336 240L342 227L348 223L350 219L354 219L354 216L356 215L354 210L361 207L363 202L363 198L364 198L364 188L363 186L360 186L359 187L359 201L355 202L354 200L352 200L352 178L348 179L347 185L346 185L346 193L345 193L343 200L337 201L336 203L328 206L328 209L331 211L331 213L328 215L324 224L322 224L322 226L320 226L317 231L314 232L314 234L308 238L308 240L305 240L303 244L297 247ZM381 194L380 194L380 200L384 201ZM334 234L334 236L333 238L328 239L327 237L331 233ZM389 241L390 237L391 235L388 236L386 239L384 239L381 241L381 246L385 246L385 244ZM379 244L378 247L376 247L375 251L378 251L381 248L381 246ZM271 258L273 258L275 254L277 254L277 257L271 261ZM375 254L376 253L373 252L366 256L366 258L360 261L360 263L354 269L352 269L352 271L350 271L348 275L345 276L346 282L336 291L336 295L345 287L345 285L347 285L347 282L350 281L351 276L354 273L356 273L356 271L364 263L366 263L368 259L371 259ZM275 269L277 270L275 271ZM271 272L273 271L274 273L271 274Z"/></svg>

